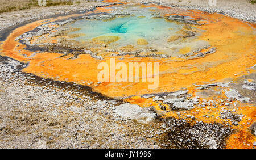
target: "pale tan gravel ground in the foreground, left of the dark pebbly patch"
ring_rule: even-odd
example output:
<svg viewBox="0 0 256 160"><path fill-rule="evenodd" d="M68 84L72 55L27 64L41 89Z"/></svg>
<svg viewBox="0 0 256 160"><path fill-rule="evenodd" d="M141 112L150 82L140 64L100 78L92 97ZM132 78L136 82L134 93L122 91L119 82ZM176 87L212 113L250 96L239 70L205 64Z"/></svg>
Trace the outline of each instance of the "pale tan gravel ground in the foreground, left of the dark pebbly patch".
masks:
<svg viewBox="0 0 256 160"><path fill-rule="evenodd" d="M118 100L80 94L78 85L38 79L19 71L26 64L0 59L0 148L159 148L162 123L153 113L146 112L150 126L118 120Z"/></svg>

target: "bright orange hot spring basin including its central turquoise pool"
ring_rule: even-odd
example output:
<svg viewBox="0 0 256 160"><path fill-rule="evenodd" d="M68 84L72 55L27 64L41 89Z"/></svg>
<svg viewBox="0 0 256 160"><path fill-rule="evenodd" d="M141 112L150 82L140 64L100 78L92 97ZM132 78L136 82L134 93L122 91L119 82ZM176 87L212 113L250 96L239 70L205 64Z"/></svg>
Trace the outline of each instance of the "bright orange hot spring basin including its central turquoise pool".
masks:
<svg viewBox="0 0 256 160"><path fill-rule="evenodd" d="M247 129L255 121L255 24L165 6L112 5L16 28L1 56L26 63L24 72L87 85L187 125L230 124L238 132L222 135L227 148L251 148L255 141ZM159 87L98 83L97 64L113 57L159 62Z"/></svg>

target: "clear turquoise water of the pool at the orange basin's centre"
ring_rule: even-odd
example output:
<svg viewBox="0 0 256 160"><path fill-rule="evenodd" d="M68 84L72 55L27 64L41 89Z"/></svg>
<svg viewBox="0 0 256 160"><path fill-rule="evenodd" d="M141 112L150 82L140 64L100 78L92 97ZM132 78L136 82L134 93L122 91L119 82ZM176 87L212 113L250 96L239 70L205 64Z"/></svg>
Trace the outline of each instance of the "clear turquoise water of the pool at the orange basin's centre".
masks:
<svg viewBox="0 0 256 160"><path fill-rule="evenodd" d="M156 19L151 16L126 16L109 21L81 19L69 26L81 28L72 33L85 34L85 36L74 38L78 41L90 41L98 36L119 36L120 39L111 44L137 45L137 39L143 38L152 47L167 44L167 38L182 27L179 24L167 22L164 18Z"/></svg>

